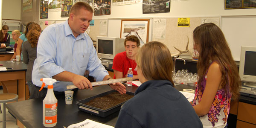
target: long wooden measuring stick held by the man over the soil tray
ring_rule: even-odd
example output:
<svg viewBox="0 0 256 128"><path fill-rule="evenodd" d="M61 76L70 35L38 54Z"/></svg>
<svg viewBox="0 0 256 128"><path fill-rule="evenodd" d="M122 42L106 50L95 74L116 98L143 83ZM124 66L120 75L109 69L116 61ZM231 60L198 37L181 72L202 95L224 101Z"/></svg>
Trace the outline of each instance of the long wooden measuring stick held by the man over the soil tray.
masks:
<svg viewBox="0 0 256 128"><path fill-rule="evenodd" d="M123 82L123 81L131 81L132 77L125 77L120 79L113 79L108 81L98 81L98 82L91 82L93 86L102 85L102 84L111 84L116 82ZM67 89L74 89L77 88L75 85L67 85Z"/></svg>

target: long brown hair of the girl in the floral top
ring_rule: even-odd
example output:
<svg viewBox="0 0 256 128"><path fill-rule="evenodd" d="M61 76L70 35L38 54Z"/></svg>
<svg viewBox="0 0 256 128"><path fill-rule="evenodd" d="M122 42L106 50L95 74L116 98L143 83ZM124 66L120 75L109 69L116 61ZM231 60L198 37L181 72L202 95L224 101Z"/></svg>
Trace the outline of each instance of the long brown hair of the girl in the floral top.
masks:
<svg viewBox="0 0 256 128"><path fill-rule="evenodd" d="M214 23L204 23L195 28L193 38L194 43L200 49L197 64L198 89L201 90L201 82L209 68L210 61L216 61L221 70L221 87L233 95L232 99L237 99L241 86L240 76L221 29ZM229 88L227 84L230 84Z"/></svg>

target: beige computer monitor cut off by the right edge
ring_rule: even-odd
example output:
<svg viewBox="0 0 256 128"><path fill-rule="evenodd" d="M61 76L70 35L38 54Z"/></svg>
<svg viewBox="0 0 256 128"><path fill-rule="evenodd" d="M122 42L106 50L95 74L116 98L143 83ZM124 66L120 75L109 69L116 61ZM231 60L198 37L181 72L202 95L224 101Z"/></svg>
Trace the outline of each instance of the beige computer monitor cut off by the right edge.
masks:
<svg viewBox="0 0 256 128"><path fill-rule="evenodd" d="M245 86L256 87L256 47L241 47L239 76Z"/></svg>

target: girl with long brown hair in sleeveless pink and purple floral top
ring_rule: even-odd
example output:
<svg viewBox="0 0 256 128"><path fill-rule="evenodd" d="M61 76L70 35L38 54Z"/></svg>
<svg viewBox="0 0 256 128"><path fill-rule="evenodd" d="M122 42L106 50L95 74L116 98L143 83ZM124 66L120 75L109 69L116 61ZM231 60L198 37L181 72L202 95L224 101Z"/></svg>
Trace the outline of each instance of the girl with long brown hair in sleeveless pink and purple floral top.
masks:
<svg viewBox="0 0 256 128"><path fill-rule="evenodd" d="M193 108L205 128L224 128L231 97L239 97L238 69L223 32L214 23L196 27L193 38L194 49L199 52Z"/></svg>

